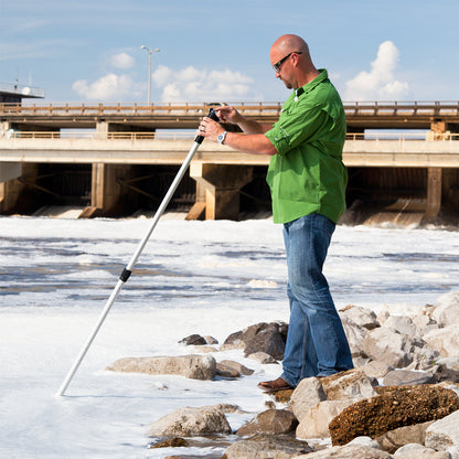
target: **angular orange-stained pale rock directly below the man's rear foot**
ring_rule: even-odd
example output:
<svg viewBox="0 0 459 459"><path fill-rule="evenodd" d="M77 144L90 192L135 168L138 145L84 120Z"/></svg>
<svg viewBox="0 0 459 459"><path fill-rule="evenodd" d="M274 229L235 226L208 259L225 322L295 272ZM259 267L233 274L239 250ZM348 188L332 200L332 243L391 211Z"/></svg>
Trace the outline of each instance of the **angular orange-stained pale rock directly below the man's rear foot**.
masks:
<svg viewBox="0 0 459 459"><path fill-rule="evenodd" d="M371 381L362 370L348 370L346 372L321 377L320 382L328 401L359 401L377 395Z"/></svg>

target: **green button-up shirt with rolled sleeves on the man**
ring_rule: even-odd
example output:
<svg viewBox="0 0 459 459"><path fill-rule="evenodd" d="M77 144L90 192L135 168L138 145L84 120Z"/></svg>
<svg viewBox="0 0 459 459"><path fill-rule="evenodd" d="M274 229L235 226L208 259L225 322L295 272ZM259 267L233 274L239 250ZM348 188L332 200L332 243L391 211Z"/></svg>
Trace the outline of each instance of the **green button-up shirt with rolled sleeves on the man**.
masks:
<svg viewBox="0 0 459 459"><path fill-rule="evenodd" d="M325 70L296 89L265 134L277 150L267 182L273 218L287 223L311 213L333 222L345 210L348 172L342 162L345 114Z"/></svg>

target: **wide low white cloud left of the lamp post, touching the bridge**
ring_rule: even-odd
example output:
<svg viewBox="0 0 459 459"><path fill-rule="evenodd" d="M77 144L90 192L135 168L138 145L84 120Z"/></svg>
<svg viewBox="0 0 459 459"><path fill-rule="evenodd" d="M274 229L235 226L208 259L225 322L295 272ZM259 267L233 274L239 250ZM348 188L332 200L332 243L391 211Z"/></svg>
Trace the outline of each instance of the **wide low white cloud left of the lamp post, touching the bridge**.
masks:
<svg viewBox="0 0 459 459"><path fill-rule="evenodd" d="M72 88L88 100L119 102L134 100L141 96L139 85L128 75L110 73L88 84L86 79L78 79Z"/></svg>

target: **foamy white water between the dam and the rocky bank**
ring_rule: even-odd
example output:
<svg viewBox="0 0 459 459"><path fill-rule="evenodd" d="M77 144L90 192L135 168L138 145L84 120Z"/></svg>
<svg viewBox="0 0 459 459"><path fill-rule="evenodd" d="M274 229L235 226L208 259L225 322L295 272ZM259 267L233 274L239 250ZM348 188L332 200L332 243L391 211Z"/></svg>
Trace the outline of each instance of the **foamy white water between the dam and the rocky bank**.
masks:
<svg viewBox="0 0 459 459"><path fill-rule="evenodd" d="M281 227L270 220L161 221L66 396L54 397L150 222L0 218L0 457L198 455L196 447L148 449L148 425L183 406L224 402L246 412L228 417L236 429L266 409L256 385L277 377L279 365L237 350L213 354L255 371L231 382L105 367L125 356L195 352L179 344L192 333L222 343L249 324L288 321ZM457 232L339 226L325 274L338 308L404 314L459 289L458 259Z"/></svg>

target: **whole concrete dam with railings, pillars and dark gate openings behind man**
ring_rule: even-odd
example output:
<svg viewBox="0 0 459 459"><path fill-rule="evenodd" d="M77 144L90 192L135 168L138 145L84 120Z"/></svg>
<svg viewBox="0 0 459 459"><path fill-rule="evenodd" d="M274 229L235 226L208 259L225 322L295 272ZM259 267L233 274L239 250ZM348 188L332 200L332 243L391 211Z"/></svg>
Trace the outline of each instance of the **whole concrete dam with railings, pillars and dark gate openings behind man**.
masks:
<svg viewBox="0 0 459 459"><path fill-rule="evenodd" d="M275 122L281 104L233 104ZM0 213L154 211L211 104L0 104ZM349 223L459 223L459 103L344 104ZM226 126L227 130L234 129ZM270 211L269 158L204 142L171 209L189 218Z"/></svg>

